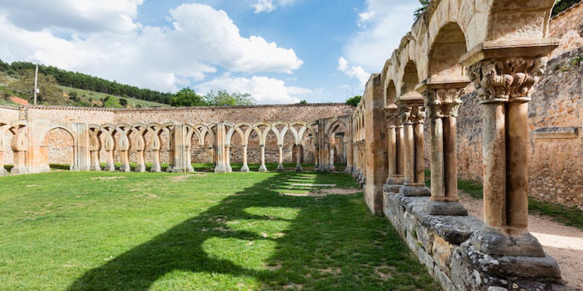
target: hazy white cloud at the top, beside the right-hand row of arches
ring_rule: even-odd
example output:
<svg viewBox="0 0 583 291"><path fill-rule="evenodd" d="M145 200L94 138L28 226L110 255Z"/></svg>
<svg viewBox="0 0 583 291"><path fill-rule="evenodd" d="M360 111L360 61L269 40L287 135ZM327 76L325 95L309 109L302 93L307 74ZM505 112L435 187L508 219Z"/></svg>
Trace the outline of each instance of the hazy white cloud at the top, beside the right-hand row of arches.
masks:
<svg viewBox="0 0 583 291"><path fill-rule="evenodd" d="M361 30L344 48L346 59L369 72L380 72L410 31L418 6L419 2L411 0L366 0L357 22Z"/></svg>

